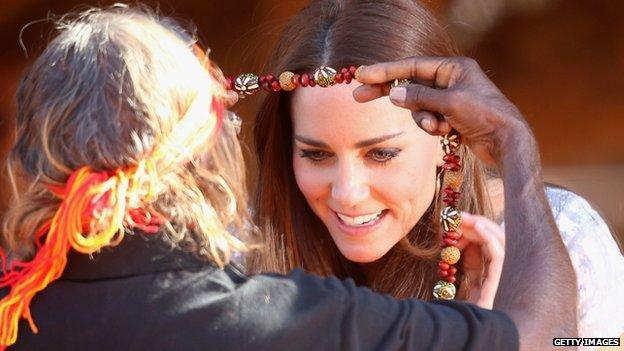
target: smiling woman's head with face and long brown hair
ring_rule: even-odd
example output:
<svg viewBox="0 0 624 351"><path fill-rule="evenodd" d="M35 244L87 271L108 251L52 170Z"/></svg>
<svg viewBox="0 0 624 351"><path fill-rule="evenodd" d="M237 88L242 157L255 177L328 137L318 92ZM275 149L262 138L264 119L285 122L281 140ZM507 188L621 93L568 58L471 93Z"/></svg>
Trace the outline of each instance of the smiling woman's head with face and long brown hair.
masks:
<svg viewBox="0 0 624 351"><path fill-rule="evenodd" d="M417 3L314 1L286 28L267 72L309 74L415 54L458 54ZM356 86L302 88L264 101L255 140L266 255L250 265L278 272L304 267L430 300L439 279L440 137L387 98L357 103ZM483 165L464 147L459 155L458 207L492 217Z"/></svg>

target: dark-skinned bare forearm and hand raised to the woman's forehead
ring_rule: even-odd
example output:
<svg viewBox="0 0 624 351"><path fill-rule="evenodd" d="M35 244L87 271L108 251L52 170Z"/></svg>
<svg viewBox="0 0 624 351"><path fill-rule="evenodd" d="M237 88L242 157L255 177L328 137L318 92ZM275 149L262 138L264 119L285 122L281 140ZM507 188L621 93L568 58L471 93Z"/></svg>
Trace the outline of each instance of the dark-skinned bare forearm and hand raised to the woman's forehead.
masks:
<svg viewBox="0 0 624 351"><path fill-rule="evenodd" d="M389 89L387 82L414 83ZM577 334L577 285L542 180L535 138L520 111L467 58L411 57L362 69L359 102L390 95L432 135L454 128L472 152L497 167L505 188L505 261L494 308L516 324L522 350ZM417 82L417 83L416 83Z"/></svg>

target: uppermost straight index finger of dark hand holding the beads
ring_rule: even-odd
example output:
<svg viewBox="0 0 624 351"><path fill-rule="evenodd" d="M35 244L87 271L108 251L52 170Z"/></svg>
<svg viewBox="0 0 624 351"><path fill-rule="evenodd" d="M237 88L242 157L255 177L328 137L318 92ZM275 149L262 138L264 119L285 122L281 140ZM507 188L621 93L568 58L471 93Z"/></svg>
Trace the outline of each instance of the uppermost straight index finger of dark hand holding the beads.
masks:
<svg viewBox="0 0 624 351"><path fill-rule="evenodd" d="M409 57L399 61L383 62L364 67L358 81L364 84L380 84L401 78L436 81L440 66L448 62L445 57Z"/></svg>

